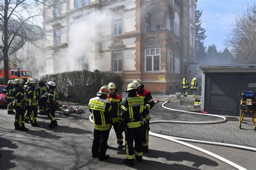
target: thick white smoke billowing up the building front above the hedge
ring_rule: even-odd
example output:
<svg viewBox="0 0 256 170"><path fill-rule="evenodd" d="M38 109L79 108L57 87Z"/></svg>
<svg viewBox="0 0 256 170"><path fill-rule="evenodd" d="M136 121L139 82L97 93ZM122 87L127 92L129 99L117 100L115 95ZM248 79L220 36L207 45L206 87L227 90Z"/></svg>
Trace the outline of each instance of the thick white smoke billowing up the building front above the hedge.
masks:
<svg viewBox="0 0 256 170"><path fill-rule="evenodd" d="M111 18L110 12L92 12L70 22L69 46L62 72L104 67L99 52L103 41L101 35L105 35L106 26L111 26Z"/></svg>

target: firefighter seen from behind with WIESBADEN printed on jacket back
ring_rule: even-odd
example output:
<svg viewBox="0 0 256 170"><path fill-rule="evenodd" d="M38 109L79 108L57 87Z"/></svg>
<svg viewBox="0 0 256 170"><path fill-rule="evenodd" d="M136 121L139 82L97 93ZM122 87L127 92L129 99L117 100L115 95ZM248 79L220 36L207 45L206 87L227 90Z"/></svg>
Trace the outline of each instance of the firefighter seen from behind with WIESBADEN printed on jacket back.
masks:
<svg viewBox="0 0 256 170"><path fill-rule="evenodd" d="M128 97L124 99L121 106L121 125L125 128L125 150L126 159L124 163L127 165L134 164L134 157L138 161L142 161L143 156L143 127L146 122L146 114L144 112L145 99L137 96L138 86L135 83L127 85ZM143 120L143 121L142 121ZM135 154L133 151L133 141L135 143Z"/></svg>

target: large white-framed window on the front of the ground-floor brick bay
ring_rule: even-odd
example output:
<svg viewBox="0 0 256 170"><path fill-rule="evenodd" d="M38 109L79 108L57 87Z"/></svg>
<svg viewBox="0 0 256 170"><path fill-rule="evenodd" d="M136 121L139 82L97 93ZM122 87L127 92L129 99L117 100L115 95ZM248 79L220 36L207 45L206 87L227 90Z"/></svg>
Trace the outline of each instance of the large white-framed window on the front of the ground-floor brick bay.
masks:
<svg viewBox="0 0 256 170"><path fill-rule="evenodd" d="M160 49L146 49L146 71L160 71Z"/></svg>

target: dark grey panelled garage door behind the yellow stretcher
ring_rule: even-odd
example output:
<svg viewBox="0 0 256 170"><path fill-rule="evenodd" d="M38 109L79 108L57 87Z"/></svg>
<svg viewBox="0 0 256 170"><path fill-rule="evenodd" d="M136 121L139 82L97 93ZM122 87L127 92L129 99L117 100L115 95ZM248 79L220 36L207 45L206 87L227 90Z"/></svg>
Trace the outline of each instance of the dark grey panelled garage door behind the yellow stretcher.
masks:
<svg viewBox="0 0 256 170"><path fill-rule="evenodd" d="M242 91L256 91L255 73L206 73L205 111L239 115Z"/></svg>

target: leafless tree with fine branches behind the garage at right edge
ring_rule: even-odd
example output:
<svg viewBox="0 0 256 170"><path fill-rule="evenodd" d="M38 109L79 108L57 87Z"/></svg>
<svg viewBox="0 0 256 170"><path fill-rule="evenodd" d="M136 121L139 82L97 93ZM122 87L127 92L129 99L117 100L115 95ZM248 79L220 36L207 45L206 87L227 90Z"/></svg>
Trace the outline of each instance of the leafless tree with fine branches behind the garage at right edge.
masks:
<svg viewBox="0 0 256 170"><path fill-rule="evenodd" d="M238 14L226 44L232 48L231 52L239 63L256 63L255 5L248 5L241 14Z"/></svg>

